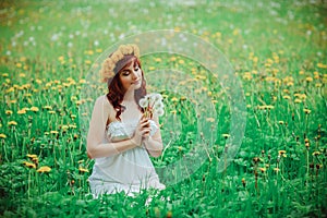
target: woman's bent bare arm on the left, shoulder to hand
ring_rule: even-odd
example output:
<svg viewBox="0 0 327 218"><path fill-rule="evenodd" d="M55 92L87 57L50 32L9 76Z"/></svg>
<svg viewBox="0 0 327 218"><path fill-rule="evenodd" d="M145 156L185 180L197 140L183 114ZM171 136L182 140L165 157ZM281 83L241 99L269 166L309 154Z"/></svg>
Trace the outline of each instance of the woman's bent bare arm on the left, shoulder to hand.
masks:
<svg viewBox="0 0 327 218"><path fill-rule="evenodd" d="M102 138L106 134L106 123L110 111L112 112L114 109L106 96L99 97L94 106L87 134L87 156L89 158L109 157L141 145L142 134L144 134L142 129L136 131L132 138L102 144Z"/></svg>

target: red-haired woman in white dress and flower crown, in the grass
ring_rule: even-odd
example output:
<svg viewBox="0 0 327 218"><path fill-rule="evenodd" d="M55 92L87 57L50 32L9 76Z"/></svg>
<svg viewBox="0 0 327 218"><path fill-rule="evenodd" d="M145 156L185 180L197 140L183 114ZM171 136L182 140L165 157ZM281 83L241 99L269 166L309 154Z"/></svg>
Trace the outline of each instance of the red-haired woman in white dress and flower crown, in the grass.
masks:
<svg viewBox="0 0 327 218"><path fill-rule="evenodd" d="M92 193L165 189L149 159L162 150L158 117L144 117L138 105L146 82L136 45L122 45L102 64L108 94L96 99L87 135L87 154L95 159L89 177Z"/></svg>

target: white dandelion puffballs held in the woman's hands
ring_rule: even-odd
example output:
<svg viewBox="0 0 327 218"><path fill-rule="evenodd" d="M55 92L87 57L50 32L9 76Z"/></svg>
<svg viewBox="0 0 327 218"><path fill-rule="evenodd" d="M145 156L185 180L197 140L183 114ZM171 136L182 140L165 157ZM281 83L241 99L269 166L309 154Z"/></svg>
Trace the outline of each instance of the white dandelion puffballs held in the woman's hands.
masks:
<svg viewBox="0 0 327 218"><path fill-rule="evenodd" d="M144 96L140 99L138 105L144 109L145 118L153 119L154 114L160 117L165 113L162 96L158 93Z"/></svg>

